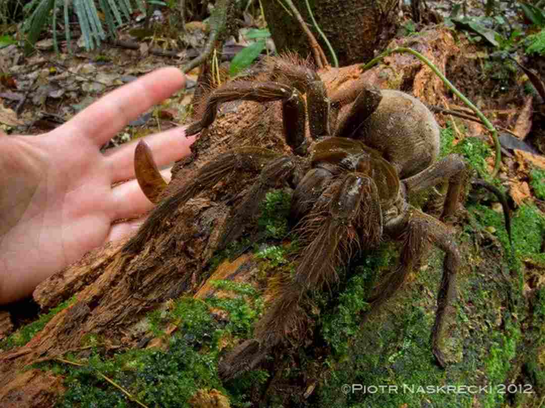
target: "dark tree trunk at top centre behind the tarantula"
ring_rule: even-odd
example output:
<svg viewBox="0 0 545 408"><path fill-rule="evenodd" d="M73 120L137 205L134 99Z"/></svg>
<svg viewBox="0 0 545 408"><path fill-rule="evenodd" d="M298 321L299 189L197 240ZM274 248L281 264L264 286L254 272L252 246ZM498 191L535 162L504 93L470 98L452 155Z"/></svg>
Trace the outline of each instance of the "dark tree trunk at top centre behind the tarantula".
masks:
<svg viewBox="0 0 545 408"><path fill-rule="evenodd" d="M331 63L331 53L312 27L305 0L293 0L293 3L311 26ZM277 51L294 51L302 56L310 54L306 36L281 2L265 0L262 4ZM318 26L337 54L340 66L371 59L374 50L385 47L396 33L398 0L309 0L309 4Z"/></svg>

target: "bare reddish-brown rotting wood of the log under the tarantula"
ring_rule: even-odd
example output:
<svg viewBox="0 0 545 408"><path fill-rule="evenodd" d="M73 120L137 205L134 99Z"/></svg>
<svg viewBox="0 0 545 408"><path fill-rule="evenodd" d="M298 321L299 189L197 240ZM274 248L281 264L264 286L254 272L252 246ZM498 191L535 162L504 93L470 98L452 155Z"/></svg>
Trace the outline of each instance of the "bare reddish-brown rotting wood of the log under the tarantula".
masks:
<svg viewBox="0 0 545 408"><path fill-rule="evenodd" d="M440 69L457 50L446 30L433 30L414 41L411 46ZM427 67L405 55L393 55L386 63L387 66L379 65L363 75L359 65L320 71L319 75L329 91L361 79L380 88L412 91L423 102L437 104L439 96L435 92L439 94L442 85L432 78ZM203 131L192 146L191 156L174 166L172 182L163 196L173 194L187 180L192 180L196 169L233 147L247 145L288 151L282 137L279 103L230 103L222 111L225 114L209 131ZM14 390L18 394L35 395L39 388L50 395L48 398L62 391L60 380L50 374L21 372L28 364L77 349L88 333L104 336L112 347L136 347L142 333L134 329L135 323L146 312L181 294L202 295L207 287L203 274L219 239L219 226L228 216L223 203L237 200L251 177L252 174L228 177L189 200L156 225L153 236L137 254L120 251L123 242L110 243L41 283L34 299L45 309L74 295L76 300L54 316L28 344L0 353L0 405L14 403ZM251 269L248 262L251 265L251 259L245 262L246 268L231 265L228 273L232 274L233 268L240 269L240 279L248 279L249 275L245 275ZM220 271L227 273L220 268L216 276ZM39 385L42 383L47 388ZM42 403L43 399L38 397L29 398L25 406L44 406Z"/></svg>

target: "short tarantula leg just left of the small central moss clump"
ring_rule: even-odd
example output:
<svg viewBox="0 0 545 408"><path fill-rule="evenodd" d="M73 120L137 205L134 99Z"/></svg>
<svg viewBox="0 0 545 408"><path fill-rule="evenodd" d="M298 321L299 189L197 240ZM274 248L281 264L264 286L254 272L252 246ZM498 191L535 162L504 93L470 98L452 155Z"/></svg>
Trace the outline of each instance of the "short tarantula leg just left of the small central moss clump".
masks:
<svg viewBox="0 0 545 408"><path fill-rule="evenodd" d="M231 212L231 217L223 227L216 249L223 249L240 237L248 222L255 219L259 211L259 204L265 198L267 191L289 181L295 169L293 158L288 156L278 157L263 168L257 181L245 193L243 201Z"/></svg>

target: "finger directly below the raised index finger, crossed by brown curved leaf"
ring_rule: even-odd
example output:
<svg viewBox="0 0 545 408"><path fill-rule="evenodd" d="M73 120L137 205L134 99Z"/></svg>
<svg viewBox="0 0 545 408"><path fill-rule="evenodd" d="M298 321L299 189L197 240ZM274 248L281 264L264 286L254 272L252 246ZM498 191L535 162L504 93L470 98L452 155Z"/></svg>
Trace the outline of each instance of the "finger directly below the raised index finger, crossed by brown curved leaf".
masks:
<svg viewBox="0 0 545 408"><path fill-rule="evenodd" d="M152 149L153 159L161 168L176 160L189 156L189 146L195 141L195 137L185 137L185 128L176 127L168 131L150 135L144 140ZM112 168L112 181L128 180L135 177L134 156L138 140L130 144L117 147L112 152L107 151L105 156Z"/></svg>

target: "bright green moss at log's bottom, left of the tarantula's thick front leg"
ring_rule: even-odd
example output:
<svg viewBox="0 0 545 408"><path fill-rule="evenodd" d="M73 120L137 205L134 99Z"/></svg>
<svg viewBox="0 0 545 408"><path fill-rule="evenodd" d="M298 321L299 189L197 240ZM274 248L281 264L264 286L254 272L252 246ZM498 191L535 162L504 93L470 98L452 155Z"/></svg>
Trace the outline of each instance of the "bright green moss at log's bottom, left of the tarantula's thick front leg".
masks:
<svg viewBox="0 0 545 408"><path fill-rule="evenodd" d="M267 373L246 373L240 379L222 385L217 362L223 347L222 338L251 335L251 327L261 313L259 293L244 283L215 281L213 285L234 292L233 298L205 300L180 298L167 310L148 315L155 335L162 335L167 325L177 330L166 338L166 351L156 348L130 350L111 358L96 349L83 367L70 364L42 363L43 369L65 376L67 391L61 407L134 406L128 397L108 383L102 375L125 388L134 398L148 406L188 407L189 399L202 388L216 388L231 400L232 406L247 406L249 390L264 384ZM211 309L225 310L229 319L215 319ZM72 360L74 356L65 356ZM81 363L79 361L78 363Z"/></svg>

